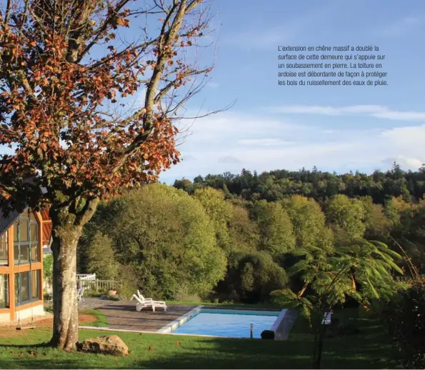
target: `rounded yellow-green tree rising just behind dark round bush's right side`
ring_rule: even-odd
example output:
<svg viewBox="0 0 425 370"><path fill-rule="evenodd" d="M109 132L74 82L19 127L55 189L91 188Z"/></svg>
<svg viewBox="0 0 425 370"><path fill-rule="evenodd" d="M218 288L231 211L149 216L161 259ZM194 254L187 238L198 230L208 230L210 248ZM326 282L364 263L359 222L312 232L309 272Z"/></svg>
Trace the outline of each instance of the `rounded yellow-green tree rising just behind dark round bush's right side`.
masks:
<svg viewBox="0 0 425 370"><path fill-rule="evenodd" d="M259 226L259 249L279 255L294 248L294 229L281 204L258 201L253 214Z"/></svg>

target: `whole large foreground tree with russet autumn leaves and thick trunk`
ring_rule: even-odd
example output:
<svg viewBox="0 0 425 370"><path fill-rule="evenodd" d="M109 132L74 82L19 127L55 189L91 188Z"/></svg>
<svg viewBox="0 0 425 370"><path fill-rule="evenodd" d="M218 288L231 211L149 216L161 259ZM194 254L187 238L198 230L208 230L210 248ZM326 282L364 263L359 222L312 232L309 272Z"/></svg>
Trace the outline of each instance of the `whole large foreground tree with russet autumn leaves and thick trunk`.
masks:
<svg viewBox="0 0 425 370"><path fill-rule="evenodd" d="M203 3L10 0L1 9L0 145L14 154L0 160L0 205L50 206L54 346L76 348L76 246L99 200L179 161L175 119L211 71L190 53L209 26ZM143 32L128 37L136 17Z"/></svg>

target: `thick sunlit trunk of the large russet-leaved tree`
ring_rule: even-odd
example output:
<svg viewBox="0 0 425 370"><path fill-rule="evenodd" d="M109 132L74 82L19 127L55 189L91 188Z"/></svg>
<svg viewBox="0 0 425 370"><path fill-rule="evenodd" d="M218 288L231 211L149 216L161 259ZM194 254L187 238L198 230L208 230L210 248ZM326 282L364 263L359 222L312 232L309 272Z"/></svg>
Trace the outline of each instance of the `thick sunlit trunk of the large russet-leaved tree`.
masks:
<svg viewBox="0 0 425 370"><path fill-rule="evenodd" d="M53 252L52 346L71 351L78 343L76 247L84 224L96 211L97 200L88 202L78 214L68 208L51 209Z"/></svg>

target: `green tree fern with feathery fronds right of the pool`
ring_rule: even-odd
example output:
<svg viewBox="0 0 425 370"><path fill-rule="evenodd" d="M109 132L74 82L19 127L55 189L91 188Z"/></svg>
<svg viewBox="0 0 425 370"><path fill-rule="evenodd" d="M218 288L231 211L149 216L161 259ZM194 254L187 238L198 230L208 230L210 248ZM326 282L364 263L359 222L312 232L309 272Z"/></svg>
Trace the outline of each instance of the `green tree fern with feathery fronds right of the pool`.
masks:
<svg viewBox="0 0 425 370"><path fill-rule="evenodd" d="M394 263L401 256L384 243L364 239L336 246L332 252L315 248L294 253L304 259L296 262L289 273L301 276L304 287L301 291L273 291L272 296L279 304L299 307L309 319L314 331L313 368L320 369L325 314L347 297L364 306L370 306L371 299L388 300L397 287L392 272L402 274Z"/></svg>

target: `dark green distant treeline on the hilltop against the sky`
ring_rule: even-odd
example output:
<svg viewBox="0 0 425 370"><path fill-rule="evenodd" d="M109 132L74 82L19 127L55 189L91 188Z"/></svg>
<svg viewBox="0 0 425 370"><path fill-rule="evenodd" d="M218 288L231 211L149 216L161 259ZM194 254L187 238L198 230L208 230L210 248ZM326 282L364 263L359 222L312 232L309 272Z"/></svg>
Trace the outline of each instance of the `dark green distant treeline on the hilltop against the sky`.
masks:
<svg viewBox="0 0 425 370"><path fill-rule="evenodd" d="M241 174L225 172L204 178L197 176L194 181L181 179L174 182L174 187L189 194L204 186L223 190L227 199L241 196L248 201L279 201L297 194L321 203L336 194L344 194L350 198L371 196L375 204L384 204L398 196L407 202L415 202L424 197L425 167L418 171L403 171L394 162L391 170L374 171L373 174L359 171L336 174L318 171L316 167L311 171L304 168L299 171L279 169L261 174L243 169Z"/></svg>

